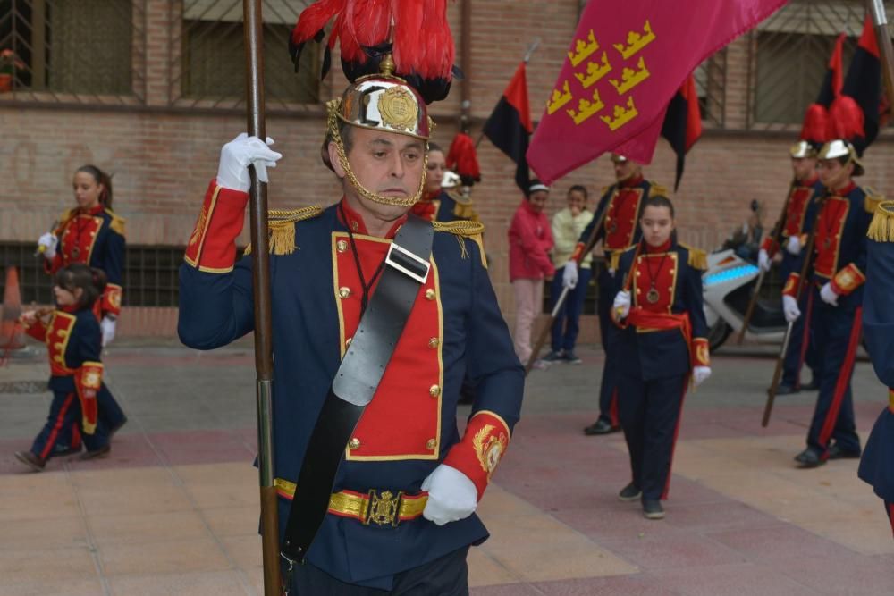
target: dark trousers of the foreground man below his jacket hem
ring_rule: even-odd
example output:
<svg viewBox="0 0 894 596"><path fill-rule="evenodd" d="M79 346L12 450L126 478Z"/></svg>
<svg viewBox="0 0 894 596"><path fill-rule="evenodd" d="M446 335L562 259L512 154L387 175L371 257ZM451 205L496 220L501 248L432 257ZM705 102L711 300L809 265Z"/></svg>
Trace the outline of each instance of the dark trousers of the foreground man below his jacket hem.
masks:
<svg viewBox="0 0 894 596"><path fill-rule="evenodd" d="M345 583L309 563L296 566L289 596L468 596L468 546L394 575L391 590Z"/></svg>

